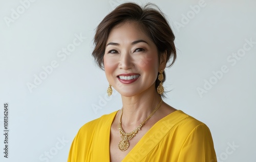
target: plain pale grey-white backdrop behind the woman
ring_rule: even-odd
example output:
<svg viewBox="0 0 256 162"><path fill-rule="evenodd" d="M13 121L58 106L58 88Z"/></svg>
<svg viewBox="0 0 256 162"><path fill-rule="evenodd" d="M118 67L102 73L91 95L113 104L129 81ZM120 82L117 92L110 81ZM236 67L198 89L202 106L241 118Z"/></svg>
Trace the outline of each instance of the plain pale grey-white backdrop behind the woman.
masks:
<svg viewBox="0 0 256 162"><path fill-rule="evenodd" d="M119 94L106 97L108 82L91 52L96 26L124 1L46 0L27 3L26 8L22 2L0 1L0 159L67 161L78 129L122 106ZM164 87L171 91L164 101L208 125L219 161L256 161L256 2L134 2L158 5L176 35L178 59L166 70ZM195 13L195 5L204 7ZM58 57L62 48L72 47L75 35L86 38L66 59ZM237 52L241 57L235 64L230 59ZM43 75L42 66L52 61L58 66ZM215 77L212 71L222 66L226 72ZM34 84L40 74L45 79L30 91L28 83ZM212 87L200 95L205 82ZM3 153L5 102L8 159Z"/></svg>

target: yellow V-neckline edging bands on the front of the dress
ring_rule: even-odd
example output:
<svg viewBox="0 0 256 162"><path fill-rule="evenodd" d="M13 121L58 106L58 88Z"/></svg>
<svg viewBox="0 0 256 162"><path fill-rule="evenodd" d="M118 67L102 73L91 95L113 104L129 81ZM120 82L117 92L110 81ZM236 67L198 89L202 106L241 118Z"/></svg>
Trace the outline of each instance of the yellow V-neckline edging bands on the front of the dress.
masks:
<svg viewBox="0 0 256 162"><path fill-rule="evenodd" d="M105 143L105 144L108 144L108 146L106 146L106 147L108 147L108 151L107 151L107 154L109 155L108 156L108 159L109 159L109 161L110 161L110 136L111 136L111 126L112 126L112 124L113 124L113 122L114 122L114 119L115 119L115 117L116 117L116 115L117 115L117 112L118 111L115 111L115 112L113 112L112 114L113 114L113 117L112 117L112 120L110 120L110 125L108 126L108 141ZM122 159L122 161L123 160L126 160L127 158L129 158L129 156L130 156L130 154L131 153L133 153L133 152L135 152L136 151L136 149L138 149L138 147L139 147L139 145L141 144L141 141L143 141L147 136L148 136L148 133L150 133L153 129L155 129L155 127L157 126L157 125L162 125L163 124L163 121L164 120L166 120L167 118L169 118L170 116L173 116L173 115L175 115L175 114L177 114L177 113L183 113L181 110L176 110L176 111L174 111L174 112L172 112L172 113L170 113L170 114L168 114L168 115L166 115L165 117L163 117L162 119L160 119L159 121L157 121L145 134L144 134L144 136L142 136L142 138L139 140L139 142L132 148L132 150L129 152L129 153L127 153L127 155ZM173 126L172 126L173 127ZM164 134L163 134L164 135ZM106 158L107 159L107 158Z"/></svg>

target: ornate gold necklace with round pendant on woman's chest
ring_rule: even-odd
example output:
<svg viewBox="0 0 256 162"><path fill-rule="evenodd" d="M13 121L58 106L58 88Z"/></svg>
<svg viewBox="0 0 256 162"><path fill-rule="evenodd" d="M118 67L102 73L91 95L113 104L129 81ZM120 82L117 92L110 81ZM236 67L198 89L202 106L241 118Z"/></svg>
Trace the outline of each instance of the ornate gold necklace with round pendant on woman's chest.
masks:
<svg viewBox="0 0 256 162"><path fill-rule="evenodd" d="M152 117L152 115L157 111L157 109L160 107L160 105L162 104L163 100L161 98L161 101L158 103L158 105L156 106L155 110L150 114L150 116L148 116L134 131L130 132L130 133L126 133L124 132L123 128L122 128L122 115L123 115L123 109L122 109L122 113L121 113L121 117L120 117L120 122L118 124L118 130L120 132L120 136L121 136L121 141L119 142L119 150L121 151L125 151L129 148L130 143L129 140L132 140L132 138L135 137L135 135L137 134L138 130L141 129L141 127L145 124L145 122L150 119Z"/></svg>

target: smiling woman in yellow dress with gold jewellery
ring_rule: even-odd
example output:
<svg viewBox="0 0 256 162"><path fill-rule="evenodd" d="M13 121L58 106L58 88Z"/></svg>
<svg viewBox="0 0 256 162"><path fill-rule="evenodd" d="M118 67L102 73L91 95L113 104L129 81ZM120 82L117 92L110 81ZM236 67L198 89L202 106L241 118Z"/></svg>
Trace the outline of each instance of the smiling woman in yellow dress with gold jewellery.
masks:
<svg viewBox="0 0 256 162"><path fill-rule="evenodd" d="M68 161L217 161L208 127L162 101L175 36L152 6L122 4L98 25L92 54L122 109L83 125Z"/></svg>

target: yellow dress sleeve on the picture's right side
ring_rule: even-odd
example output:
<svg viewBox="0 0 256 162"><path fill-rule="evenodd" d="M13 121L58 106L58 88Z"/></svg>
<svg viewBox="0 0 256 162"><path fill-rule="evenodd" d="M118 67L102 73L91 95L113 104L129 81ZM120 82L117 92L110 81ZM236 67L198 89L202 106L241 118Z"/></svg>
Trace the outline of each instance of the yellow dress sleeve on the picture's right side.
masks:
<svg viewBox="0 0 256 162"><path fill-rule="evenodd" d="M196 126L185 140L178 162L216 162L214 142L205 124Z"/></svg>

